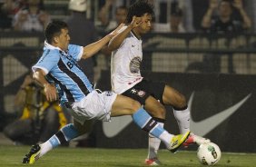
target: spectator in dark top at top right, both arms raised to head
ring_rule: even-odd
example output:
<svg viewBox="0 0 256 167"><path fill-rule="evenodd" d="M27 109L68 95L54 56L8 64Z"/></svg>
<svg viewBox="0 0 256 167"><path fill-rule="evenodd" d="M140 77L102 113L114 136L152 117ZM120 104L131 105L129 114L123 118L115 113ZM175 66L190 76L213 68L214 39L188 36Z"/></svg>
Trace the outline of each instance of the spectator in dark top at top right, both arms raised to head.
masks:
<svg viewBox="0 0 256 167"><path fill-rule="evenodd" d="M209 8L202 18L202 28L209 33L241 33L251 28L251 19L243 9L241 0L210 0ZM240 15L241 21L235 19L232 15L235 7ZM217 16L213 17L215 10L218 10Z"/></svg>

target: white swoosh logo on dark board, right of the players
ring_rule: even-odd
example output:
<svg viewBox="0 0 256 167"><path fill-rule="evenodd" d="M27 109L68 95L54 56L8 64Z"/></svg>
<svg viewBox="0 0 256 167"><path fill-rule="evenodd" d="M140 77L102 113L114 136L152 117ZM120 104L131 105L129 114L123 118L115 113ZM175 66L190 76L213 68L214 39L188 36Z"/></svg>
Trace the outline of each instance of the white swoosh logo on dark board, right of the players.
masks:
<svg viewBox="0 0 256 167"><path fill-rule="evenodd" d="M192 100L193 100L194 93L192 93L188 107L192 113ZM210 133L212 129L217 127L219 124L221 124L223 121L225 121L228 117L231 116L231 114L235 113L243 103L245 103L249 98L251 97L251 93L248 94L246 97L244 97L239 103L236 103L229 107L226 110L223 110L221 113L216 113L200 122L194 122L192 120L191 115L191 131L192 133L195 133L200 136L204 136L207 133Z"/></svg>

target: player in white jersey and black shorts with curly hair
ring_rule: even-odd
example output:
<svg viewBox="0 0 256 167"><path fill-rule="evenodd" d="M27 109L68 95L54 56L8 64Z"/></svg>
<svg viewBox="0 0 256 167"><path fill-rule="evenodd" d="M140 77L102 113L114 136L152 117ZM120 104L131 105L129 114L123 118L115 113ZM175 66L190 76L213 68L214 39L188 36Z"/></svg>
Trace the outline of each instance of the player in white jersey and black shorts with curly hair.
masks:
<svg viewBox="0 0 256 167"><path fill-rule="evenodd" d="M142 35L152 26L153 5L147 1L137 1L130 6L126 26L110 41L108 47L112 52L111 83L114 93L123 94L143 104L155 121L163 127L165 121L164 105L171 105L180 132L190 131L190 111L184 96L171 86L149 81L143 78L140 64L143 60ZM147 165L158 165L157 158L160 140L149 134L149 152L145 160ZM183 145L210 142L193 133Z"/></svg>

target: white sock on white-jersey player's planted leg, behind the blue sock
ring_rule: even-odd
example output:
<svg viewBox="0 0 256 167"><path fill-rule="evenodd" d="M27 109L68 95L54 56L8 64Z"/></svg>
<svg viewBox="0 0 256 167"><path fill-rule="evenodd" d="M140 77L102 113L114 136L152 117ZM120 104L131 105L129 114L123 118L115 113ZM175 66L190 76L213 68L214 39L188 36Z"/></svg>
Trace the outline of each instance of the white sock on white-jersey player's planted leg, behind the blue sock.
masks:
<svg viewBox="0 0 256 167"><path fill-rule="evenodd" d="M164 123L159 123L162 127ZM148 147L148 159L157 157L157 152L160 147L161 140L149 134L149 147Z"/></svg>

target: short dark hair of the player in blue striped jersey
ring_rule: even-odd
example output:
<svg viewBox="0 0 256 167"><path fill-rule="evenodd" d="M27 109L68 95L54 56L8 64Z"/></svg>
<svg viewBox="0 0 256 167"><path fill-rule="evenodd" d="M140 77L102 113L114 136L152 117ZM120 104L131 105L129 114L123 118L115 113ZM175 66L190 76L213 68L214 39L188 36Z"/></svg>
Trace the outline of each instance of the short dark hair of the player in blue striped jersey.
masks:
<svg viewBox="0 0 256 167"><path fill-rule="evenodd" d="M63 21L53 21L47 25L44 30L44 36L47 43L51 44L53 42L54 36L60 35L62 29L68 29L68 25Z"/></svg>

